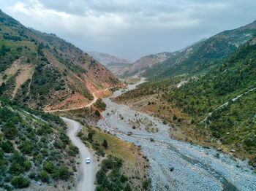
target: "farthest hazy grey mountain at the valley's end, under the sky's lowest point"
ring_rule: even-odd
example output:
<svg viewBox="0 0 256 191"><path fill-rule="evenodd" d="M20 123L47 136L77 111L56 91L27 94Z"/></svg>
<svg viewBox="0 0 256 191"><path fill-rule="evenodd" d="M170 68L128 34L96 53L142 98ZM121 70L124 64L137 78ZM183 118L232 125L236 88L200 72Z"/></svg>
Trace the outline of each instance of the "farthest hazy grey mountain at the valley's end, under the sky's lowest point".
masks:
<svg viewBox="0 0 256 191"><path fill-rule="evenodd" d="M125 67L129 67L132 61L128 61L123 58L118 58L114 55L109 55L101 52L87 51L94 59L106 66L107 69L113 72L116 76L119 76Z"/></svg>

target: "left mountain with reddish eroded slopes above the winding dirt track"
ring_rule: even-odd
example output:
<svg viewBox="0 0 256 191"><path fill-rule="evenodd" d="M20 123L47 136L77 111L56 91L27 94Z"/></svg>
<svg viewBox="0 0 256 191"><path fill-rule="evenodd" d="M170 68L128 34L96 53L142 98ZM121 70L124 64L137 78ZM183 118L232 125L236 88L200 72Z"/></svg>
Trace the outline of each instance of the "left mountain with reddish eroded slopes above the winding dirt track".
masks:
<svg viewBox="0 0 256 191"><path fill-rule="evenodd" d="M118 79L78 47L55 34L26 28L0 11L1 95L38 109L88 104L94 91Z"/></svg>

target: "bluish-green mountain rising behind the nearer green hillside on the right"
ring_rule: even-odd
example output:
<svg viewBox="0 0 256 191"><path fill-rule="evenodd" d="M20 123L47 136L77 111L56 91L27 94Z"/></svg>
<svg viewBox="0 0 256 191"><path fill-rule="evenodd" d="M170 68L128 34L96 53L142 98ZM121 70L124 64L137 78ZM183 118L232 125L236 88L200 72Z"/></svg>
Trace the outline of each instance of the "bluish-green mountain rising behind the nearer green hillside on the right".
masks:
<svg viewBox="0 0 256 191"><path fill-rule="evenodd" d="M220 62L217 58L227 56L241 44L252 39L255 34L256 20L249 25L223 31L184 50L177 51L166 61L146 69L144 76L154 79L207 70Z"/></svg>

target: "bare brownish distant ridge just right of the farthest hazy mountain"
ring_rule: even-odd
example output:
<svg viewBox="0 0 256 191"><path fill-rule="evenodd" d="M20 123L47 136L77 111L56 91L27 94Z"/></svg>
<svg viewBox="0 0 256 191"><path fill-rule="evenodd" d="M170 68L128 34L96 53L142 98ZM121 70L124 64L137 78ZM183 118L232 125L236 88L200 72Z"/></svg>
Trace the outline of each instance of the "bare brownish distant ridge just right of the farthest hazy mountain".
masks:
<svg viewBox="0 0 256 191"><path fill-rule="evenodd" d="M140 58L138 61L132 63L132 65L124 67L121 71L119 71L119 76L128 77L134 75L136 73L141 73L143 70L147 68L151 68L156 63L161 63L167 58L170 58L173 52L160 52L153 55L146 55Z"/></svg>

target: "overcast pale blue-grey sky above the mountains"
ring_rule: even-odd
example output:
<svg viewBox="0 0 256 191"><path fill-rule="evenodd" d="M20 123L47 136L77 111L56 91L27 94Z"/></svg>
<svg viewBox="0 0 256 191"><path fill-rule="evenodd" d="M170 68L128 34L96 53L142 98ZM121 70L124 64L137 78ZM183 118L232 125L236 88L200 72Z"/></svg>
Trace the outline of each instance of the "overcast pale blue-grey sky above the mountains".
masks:
<svg viewBox="0 0 256 191"><path fill-rule="evenodd" d="M135 61L256 20L255 0L0 0L24 26Z"/></svg>

